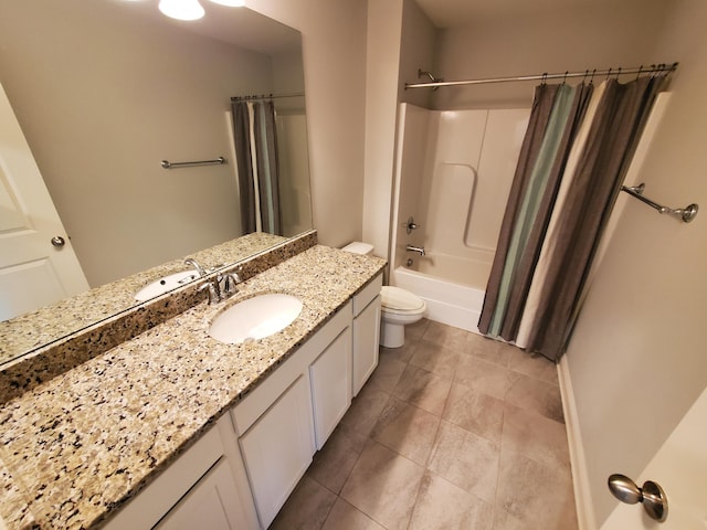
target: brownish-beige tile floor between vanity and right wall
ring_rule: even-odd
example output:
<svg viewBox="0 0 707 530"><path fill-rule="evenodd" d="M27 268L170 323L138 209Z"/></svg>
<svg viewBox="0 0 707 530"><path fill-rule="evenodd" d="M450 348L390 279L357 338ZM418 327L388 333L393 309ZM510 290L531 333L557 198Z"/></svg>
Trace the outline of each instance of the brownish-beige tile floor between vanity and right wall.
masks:
<svg viewBox="0 0 707 530"><path fill-rule="evenodd" d="M272 529L577 529L555 364L409 326Z"/></svg>

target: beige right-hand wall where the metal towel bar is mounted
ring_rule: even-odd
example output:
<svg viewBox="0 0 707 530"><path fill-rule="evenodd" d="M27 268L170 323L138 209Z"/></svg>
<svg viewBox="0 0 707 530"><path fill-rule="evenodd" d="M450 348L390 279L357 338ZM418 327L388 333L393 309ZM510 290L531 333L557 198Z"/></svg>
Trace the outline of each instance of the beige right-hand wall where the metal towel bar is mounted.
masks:
<svg viewBox="0 0 707 530"><path fill-rule="evenodd" d="M680 66L640 180L647 197L667 205L701 205L707 3L680 0L672 7L651 53ZM707 384L707 220L700 215L683 224L626 202L568 351L600 524L618 502L606 477L637 479Z"/></svg>

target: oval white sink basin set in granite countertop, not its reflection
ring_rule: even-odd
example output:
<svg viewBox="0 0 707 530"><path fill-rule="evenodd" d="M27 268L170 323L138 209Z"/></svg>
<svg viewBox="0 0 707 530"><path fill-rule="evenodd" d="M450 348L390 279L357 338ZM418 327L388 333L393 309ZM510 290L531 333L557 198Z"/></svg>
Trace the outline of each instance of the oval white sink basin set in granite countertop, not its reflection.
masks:
<svg viewBox="0 0 707 530"><path fill-rule="evenodd" d="M229 344L262 339L286 328L302 312L302 301L278 293L238 303L214 318L209 335Z"/></svg>

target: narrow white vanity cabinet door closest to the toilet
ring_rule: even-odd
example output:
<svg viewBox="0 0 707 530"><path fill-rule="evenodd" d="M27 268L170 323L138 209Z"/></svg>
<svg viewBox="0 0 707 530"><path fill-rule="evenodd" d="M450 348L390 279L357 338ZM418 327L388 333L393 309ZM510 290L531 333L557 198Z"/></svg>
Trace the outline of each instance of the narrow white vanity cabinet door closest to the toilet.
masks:
<svg viewBox="0 0 707 530"><path fill-rule="evenodd" d="M354 319L354 395L378 365L379 340L380 295Z"/></svg>

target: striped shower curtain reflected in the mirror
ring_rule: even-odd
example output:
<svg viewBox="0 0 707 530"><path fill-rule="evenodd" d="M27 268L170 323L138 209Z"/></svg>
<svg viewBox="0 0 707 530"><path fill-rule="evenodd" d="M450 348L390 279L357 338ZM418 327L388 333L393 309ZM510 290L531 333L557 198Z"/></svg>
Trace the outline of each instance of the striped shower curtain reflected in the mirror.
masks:
<svg viewBox="0 0 707 530"><path fill-rule="evenodd" d="M231 104L243 233L282 235L275 104Z"/></svg>

